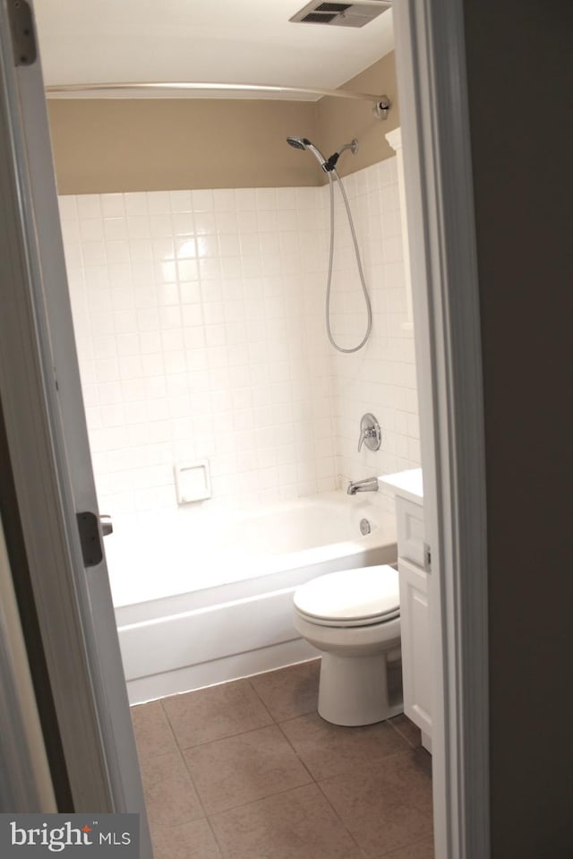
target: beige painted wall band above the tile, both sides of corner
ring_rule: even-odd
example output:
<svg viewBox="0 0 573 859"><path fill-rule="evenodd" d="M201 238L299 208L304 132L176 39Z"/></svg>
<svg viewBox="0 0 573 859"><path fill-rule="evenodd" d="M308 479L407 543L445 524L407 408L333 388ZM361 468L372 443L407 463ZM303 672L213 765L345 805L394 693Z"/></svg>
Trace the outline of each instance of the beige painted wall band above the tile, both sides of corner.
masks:
<svg viewBox="0 0 573 859"><path fill-rule="evenodd" d="M349 99L50 99L58 193L321 185L316 161L287 146L289 134L325 156L357 137L360 150L342 157L342 175L391 157L384 134L399 123L394 55L345 87L389 95L389 119Z"/></svg>

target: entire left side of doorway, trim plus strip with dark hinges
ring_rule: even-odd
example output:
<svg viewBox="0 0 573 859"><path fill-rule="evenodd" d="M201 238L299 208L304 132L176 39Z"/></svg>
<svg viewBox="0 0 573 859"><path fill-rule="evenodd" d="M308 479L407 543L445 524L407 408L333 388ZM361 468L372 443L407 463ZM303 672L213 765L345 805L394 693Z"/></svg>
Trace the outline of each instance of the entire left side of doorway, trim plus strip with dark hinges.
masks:
<svg viewBox="0 0 573 859"><path fill-rule="evenodd" d="M139 812L148 859L105 554L98 557L98 503L32 18L32 4L0 4L0 399L74 808ZM82 551L80 513L96 522L89 535L95 553Z"/></svg>

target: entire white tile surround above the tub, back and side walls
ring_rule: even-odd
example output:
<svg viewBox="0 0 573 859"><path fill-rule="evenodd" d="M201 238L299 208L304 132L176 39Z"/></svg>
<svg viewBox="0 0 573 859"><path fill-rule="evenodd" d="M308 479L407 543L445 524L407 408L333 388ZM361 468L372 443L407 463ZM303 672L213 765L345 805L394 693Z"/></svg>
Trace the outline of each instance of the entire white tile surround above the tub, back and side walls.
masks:
<svg viewBox="0 0 573 859"><path fill-rule="evenodd" d="M207 504L233 507L419 463L394 160L345 180L374 311L355 356L324 331L327 189L60 199L102 510L175 509L177 461L208 458ZM332 322L347 345L363 305L339 215ZM384 446L358 456L364 411Z"/></svg>

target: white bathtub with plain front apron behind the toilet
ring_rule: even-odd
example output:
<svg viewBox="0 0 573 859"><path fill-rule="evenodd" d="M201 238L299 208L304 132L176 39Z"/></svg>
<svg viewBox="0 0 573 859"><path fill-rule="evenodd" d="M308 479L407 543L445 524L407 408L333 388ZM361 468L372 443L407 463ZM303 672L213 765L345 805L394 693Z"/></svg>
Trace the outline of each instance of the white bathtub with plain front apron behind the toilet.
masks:
<svg viewBox="0 0 573 859"><path fill-rule="evenodd" d="M106 554L129 698L140 703L315 657L293 626L295 588L394 563L397 547L381 496L339 492L118 520Z"/></svg>

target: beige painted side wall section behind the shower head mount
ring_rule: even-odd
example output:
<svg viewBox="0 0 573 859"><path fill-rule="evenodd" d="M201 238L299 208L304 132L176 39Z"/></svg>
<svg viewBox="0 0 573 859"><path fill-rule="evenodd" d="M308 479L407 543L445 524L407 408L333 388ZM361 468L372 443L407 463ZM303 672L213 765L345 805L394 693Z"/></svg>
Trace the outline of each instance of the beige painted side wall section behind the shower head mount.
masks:
<svg viewBox="0 0 573 859"><path fill-rule="evenodd" d="M318 117L321 150L326 155L331 155L353 137L358 140L358 152L355 156L345 152L340 157L337 168L340 176L355 173L356 170L370 167L396 154L384 136L400 125L394 52L383 56L365 72L356 75L344 85L344 89L387 95L392 107L388 119L379 120L372 117L372 105L368 102L321 99Z"/></svg>

